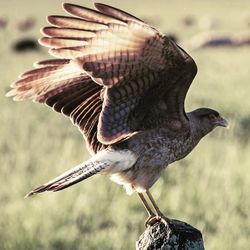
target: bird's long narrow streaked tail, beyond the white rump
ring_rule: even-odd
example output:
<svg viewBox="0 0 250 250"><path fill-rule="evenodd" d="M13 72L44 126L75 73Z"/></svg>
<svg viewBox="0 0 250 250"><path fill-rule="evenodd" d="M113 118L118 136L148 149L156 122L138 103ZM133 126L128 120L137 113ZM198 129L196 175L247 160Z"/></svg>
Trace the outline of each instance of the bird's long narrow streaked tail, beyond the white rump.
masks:
<svg viewBox="0 0 250 250"><path fill-rule="evenodd" d="M101 172L105 168L109 166L109 162L85 162L82 163L69 171L63 173L62 175L58 176L57 178L33 189L29 192L25 198L32 196L34 194L52 191L56 192L62 189L65 189L77 182L85 180L92 175Z"/></svg>

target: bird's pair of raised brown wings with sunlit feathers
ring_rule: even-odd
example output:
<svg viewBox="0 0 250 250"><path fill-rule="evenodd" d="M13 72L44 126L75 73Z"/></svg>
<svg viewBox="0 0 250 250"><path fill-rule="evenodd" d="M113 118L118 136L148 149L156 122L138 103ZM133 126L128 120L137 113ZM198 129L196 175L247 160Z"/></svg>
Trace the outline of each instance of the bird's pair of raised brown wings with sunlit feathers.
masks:
<svg viewBox="0 0 250 250"><path fill-rule="evenodd" d="M168 118L187 124L184 99L193 60L140 19L116 8L64 4L71 15L48 17L40 43L58 59L36 64L8 95L33 99L69 116L96 152L140 129L159 99Z"/></svg>

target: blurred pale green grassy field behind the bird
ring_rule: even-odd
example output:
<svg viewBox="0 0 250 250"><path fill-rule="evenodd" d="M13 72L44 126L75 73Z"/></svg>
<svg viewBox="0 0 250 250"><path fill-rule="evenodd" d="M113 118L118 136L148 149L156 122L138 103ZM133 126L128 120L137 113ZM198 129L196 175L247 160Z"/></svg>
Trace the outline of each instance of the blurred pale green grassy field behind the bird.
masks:
<svg viewBox="0 0 250 250"><path fill-rule="evenodd" d="M91 1L74 1L91 6ZM103 1L155 19L162 31L182 41L203 31L184 27L190 14L197 20L216 18L218 31L249 31L245 18L250 1ZM80 133L70 121L31 102L4 97L8 86L46 50L15 54L11 44L21 37L38 38L45 16L62 13L59 0L0 1L0 249L134 249L144 231L146 213L136 195L107 178L93 177L63 192L31 199L23 196L68 168L86 160ZM35 28L17 32L28 16ZM208 106L231 124L207 136L185 160L171 165L152 188L162 211L199 228L206 249L249 249L250 235L250 48L191 51L199 73L187 98L187 110Z"/></svg>

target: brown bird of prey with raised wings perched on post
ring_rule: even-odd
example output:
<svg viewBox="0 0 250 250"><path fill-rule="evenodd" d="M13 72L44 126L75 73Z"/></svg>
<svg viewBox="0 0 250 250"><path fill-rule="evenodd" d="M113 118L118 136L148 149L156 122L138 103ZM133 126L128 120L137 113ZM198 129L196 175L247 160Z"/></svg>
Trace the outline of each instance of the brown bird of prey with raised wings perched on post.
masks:
<svg viewBox="0 0 250 250"><path fill-rule="evenodd" d="M169 164L227 121L210 108L185 112L197 66L182 48L129 13L95 7L64 3L70 16L49 16L39 42L55 59L35 63L7 94L68 116L92 154L27 196L99 173L138 193L150 219L163 217L149 189Z"/></svg>

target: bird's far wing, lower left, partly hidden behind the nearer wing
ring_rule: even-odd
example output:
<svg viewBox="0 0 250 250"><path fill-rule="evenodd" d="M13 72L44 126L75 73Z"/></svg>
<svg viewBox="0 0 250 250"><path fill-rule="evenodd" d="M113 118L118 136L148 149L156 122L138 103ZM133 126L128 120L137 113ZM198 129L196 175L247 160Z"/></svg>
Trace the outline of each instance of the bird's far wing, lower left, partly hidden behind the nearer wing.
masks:
<svg viewBox="0 0 250 250"><path fill-rule="evenodd" d="M69 59L50 59L35 63L36 69L20 76L7 93L14 100L33 99L70 117L78 126L91 152L104 145L97 140L98 117L102 109L102 87Z"/></svg>

